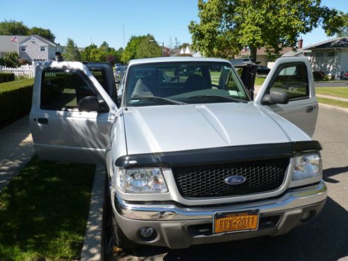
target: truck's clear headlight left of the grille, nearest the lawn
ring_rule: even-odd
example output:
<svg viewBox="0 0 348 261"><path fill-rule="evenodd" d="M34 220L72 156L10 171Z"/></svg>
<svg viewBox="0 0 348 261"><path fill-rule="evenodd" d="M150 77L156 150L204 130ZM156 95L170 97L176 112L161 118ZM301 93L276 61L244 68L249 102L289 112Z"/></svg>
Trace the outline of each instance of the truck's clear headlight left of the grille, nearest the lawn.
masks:
<svg viewBox="0 0 348 261"><path fill-rule="evenodd" d="M166 193L161 168L117 168L116 184L127 193Z"/></svg>

